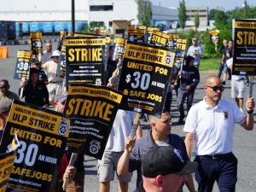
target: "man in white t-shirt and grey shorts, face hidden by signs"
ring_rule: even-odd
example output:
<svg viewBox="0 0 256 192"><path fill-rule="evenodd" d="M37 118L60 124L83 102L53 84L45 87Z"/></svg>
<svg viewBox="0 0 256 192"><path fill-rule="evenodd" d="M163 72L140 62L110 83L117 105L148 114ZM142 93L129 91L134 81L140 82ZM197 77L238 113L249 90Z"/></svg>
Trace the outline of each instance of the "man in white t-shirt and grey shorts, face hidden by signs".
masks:
<svg viewBox="0 0 256 192"><path fill-rule="evenodd" d="M108 87L117 90L119 77L113 76L108 80ZM135 112L119 109L113 121L113 127L108 137L108 143L102 160L98 161L98 175L100 179L100 192L110 191L110 181L113 180L117 170L120 156L125 151L125 139L130 136ZM137 121L137 138L142 137L142 127ZM117 176L119 179L119 191L127 192L128 183L131 182L131 173L124 176Z"/></svg>

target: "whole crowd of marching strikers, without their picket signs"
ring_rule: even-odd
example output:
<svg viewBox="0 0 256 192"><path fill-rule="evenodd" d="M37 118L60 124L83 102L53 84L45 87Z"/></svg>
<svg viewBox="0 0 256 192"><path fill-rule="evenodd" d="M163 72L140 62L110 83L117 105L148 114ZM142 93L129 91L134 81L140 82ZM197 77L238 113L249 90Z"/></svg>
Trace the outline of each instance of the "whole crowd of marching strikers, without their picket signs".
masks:
<svg viewBox="0 0 256 192"><path fill-rule="evenodd" d="M116 174L119 179L119 191L127 192L131 174L137 171L137 186L130 188L135 191L183 191L183 184L191 192L195 192L193 175L198 183L198 191L212 191L213 184L218 183L219 191L236 191L237 159L232 153L233 132L235 124L245 130L253 130L253 97L248 97L243 113L243 98L245 96L245 76L233 77L231 81L231 97L235 102L222 99L224 84L227 79L228 67L232 65L232 42L216 49L222 54L220 73L211 75L204 82L203 90L206 96L192 106L196 87L200 82L200 61L203 50L192 39L184 65L173 67L169 88L173 80L178 81L177 107L180 118L178 123L183 125L186 132L185 140L172 134L172 90L169 91L167 104L160 118L148 115L151 129L143 136L140 121L137 121L136 137L131 137L131 128L135 112L118 110L113 122L113 128L108 137L108 143L102 160L98 160L99 191L110 191L110 183ZM117 89L119 84L120 62L112 61L113 46L109 48L107 79L108 87ZM228 53L228 54L227 54ZM10 89L9 81L0 81L0 133L3 135L4 125L8 118L11 100L20 100L38 105L42 108L55 108L63 113L67 92L63 90L63 79L57 77L56 69L60 51L52 51L52 44L46 44L43 65L34 58L32 60L29 79L20 82L19 95ZM224 68L224 80L220 74ZM44 69L46 73L44 73ZM183 104L187 102L187 114ZM184 118L186 120L184 121ZM193 146L195 146L193 151ZM191 162L191 154L195 160ZM74 166L68 166L71 154L64 154L59 173L61 186L63 179L69 178L66 191L84 191L84 154L79 154ZM86 179L86 177L85 177ZM61 191L61 187L55 191Z"/></svg>

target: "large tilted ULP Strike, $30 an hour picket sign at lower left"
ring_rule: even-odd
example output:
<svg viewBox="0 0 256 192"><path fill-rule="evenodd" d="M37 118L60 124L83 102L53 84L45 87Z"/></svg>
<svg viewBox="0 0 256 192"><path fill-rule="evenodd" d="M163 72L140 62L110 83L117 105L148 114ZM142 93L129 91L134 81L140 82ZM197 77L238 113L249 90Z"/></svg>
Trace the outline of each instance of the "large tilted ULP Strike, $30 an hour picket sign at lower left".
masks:
<svg viewBox="0 0 256 192"><path fill-rule="evenodd" d="M0 154L15 135L20 140L9 177L11 189L53 191L69 134L69 120L61 113L14 101L3 132Z"/></svg>

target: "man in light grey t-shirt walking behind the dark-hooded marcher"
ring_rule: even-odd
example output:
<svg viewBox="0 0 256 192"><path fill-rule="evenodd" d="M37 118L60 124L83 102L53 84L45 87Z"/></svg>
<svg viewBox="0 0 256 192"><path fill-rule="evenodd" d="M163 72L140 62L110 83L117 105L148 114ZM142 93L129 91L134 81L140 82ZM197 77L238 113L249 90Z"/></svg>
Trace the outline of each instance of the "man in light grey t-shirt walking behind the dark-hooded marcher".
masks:
<svg viewBox="0 0 256 192"><path fill-rule="evenodd" d="M197 44L197 39L192 39L192 45L188 49L187 56L193 56L195 58L194 66L199 69L200 60L203 57L203 49Z"/></svg>

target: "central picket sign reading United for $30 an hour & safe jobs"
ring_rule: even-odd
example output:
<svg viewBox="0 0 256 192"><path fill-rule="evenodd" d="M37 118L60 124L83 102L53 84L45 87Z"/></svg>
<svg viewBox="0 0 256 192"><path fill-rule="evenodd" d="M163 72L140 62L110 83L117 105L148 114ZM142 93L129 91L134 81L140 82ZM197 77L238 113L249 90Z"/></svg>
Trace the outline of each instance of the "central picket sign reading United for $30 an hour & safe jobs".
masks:
<svg viewBox="0 0 256 192"><path fill-rule="evenodd" d="M160 116L175 53L165 47L128 41L118 90L120 108Z"/></svg>

